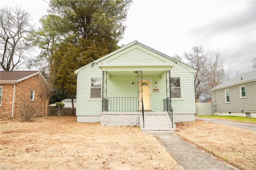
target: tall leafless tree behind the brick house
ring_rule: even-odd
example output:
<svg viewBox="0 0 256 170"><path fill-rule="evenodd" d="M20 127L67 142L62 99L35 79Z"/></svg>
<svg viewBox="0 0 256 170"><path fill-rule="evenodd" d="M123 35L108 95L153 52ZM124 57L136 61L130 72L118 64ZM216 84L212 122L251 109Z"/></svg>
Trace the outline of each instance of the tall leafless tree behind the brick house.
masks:
<svg viewBox="0 0 256 170"><path fill-rule="evenodd" d="M25 40L33 30L30 20L30 13L21 7L0 9L0 65L4 71L13 71L30 60L32 45Z"/></svg>

